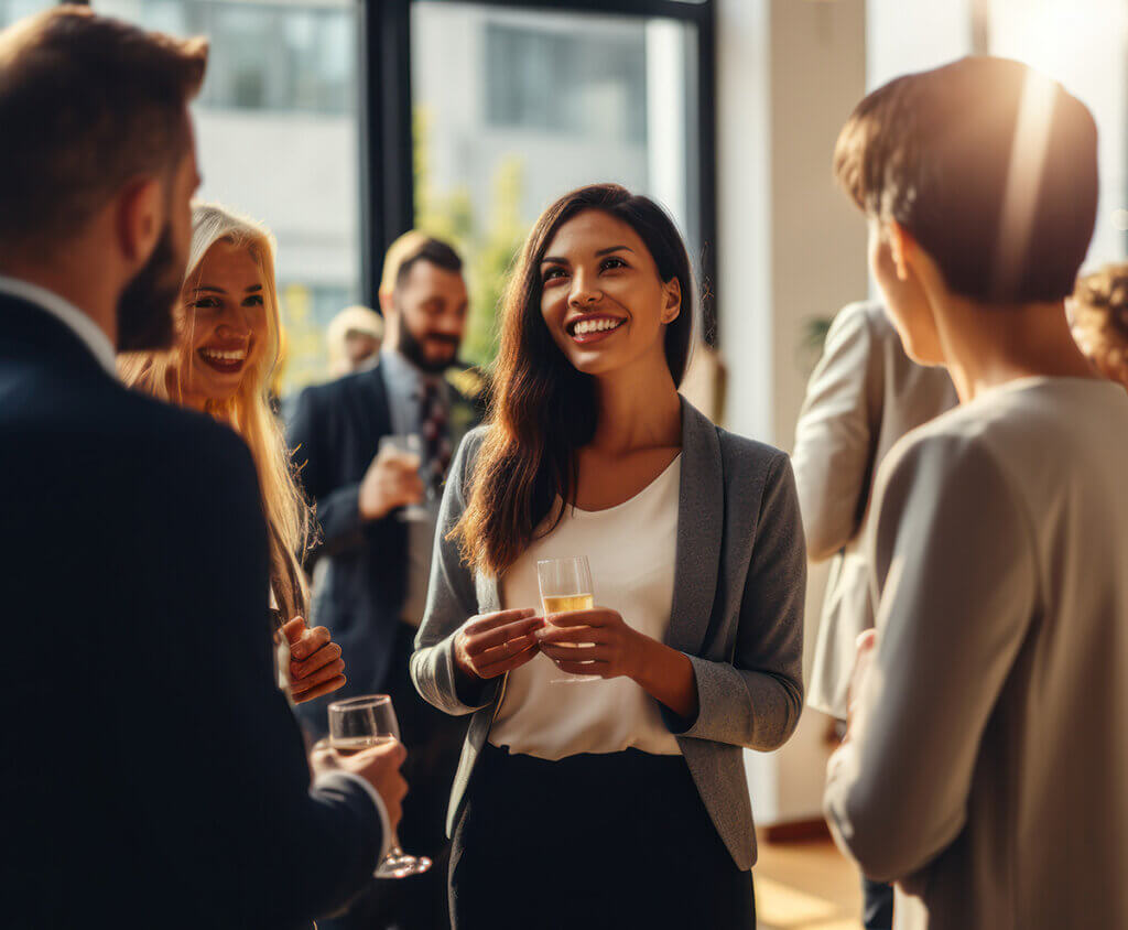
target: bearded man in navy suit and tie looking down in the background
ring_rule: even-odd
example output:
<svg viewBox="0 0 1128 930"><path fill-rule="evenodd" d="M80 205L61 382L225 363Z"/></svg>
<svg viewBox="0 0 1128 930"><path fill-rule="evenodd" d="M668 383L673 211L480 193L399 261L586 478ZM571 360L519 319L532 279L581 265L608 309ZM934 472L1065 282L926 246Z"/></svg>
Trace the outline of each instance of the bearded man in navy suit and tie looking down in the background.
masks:
<svg viewBox="0 0 1128 930"><path fill-rule="evenodd" d="M444 818L465 726L423 702L407 666L426 599L441 483L455 446L481 419L476 400L444 377L466 328L461 271L446 243L418 231L397 239L380 286L387 328L379 363L307 388L290 422L294 462L321 530L312 559L325 564L312 613L349 668L334 696L391 695L412 783L400 839L409 852L435 860L422 880L384 887L354 909L353 927L447 921ZM420 437L421 460L381 446L393 436ZM416 518L404 519L405 507ZM299 709L314 732L324 727L323 707L311 701Z"/></svg>

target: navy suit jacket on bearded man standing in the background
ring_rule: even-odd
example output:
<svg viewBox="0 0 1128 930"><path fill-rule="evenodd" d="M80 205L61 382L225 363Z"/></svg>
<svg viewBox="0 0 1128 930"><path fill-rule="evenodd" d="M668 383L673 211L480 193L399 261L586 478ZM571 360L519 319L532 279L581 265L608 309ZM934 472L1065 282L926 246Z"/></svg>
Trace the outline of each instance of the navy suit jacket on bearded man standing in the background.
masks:
<svg viewBox="0 0 1128 930"><path fill-rule="evenodd" d="M481 407L451 387L456 406ZM451 423L455 427L456 418ZM363 521L360 482L393 432L388 388L380 367L306 388L294 404L289 444L301 483L317 508L320 542L309 563L327 561L314 617L333 632L347 684L334 700L385 690L393 643L407 594L407 526L396 516ZM457 437L456 437L457 438ZM299 707L315 731L325 727L323 701Z"/></svg>

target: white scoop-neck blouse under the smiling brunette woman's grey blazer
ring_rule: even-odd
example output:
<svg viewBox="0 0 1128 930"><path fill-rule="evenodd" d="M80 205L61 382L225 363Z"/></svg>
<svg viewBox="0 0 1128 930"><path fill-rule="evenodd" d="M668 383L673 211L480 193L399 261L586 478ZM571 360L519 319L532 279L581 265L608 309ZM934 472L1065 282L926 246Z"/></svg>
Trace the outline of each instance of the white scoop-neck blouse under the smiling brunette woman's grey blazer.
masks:
<svg viewBox="0 0 1128 930"><path fill-rule="evenodd" d="M597 607L617 611L661 641L670 625L681 456L631 500L606 510L566 508L549 536L534 542L505 573L506 608L537 607L537 561L587 555ZM490 742L546 760L634 747L680 755L658 702L631 678L561 682L544 655L511 672Z"/></svg>

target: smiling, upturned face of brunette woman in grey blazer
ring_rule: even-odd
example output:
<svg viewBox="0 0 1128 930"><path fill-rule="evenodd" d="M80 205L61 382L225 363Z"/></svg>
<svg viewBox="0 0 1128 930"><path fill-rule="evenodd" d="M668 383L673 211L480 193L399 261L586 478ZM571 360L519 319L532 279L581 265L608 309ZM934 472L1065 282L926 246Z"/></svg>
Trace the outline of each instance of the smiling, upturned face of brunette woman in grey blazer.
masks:
<svg viewBox="0 0 1128 930"><path fill-rule="evenodd" d="M585 375L640 362L666 366L667 324L681 307L677 278L663 282L626 222L587 210L563 223L540 263L540 313L553 340Z"/></svg>

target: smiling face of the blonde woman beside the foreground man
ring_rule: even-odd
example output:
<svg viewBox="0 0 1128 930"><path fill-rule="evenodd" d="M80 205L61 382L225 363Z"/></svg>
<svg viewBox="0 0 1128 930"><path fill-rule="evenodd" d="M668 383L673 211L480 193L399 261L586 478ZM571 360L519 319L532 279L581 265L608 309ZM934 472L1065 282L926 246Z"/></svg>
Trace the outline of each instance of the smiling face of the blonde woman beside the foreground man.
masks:
<svg viewBox="0 0 1128 930"><path fill-rule="evenodd" d="M177 375L185 404L230 400L262 359L270 341L265 283L252 251L224 239L184 282Z"/></svg>

